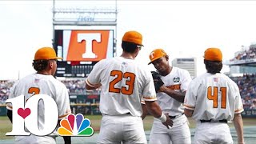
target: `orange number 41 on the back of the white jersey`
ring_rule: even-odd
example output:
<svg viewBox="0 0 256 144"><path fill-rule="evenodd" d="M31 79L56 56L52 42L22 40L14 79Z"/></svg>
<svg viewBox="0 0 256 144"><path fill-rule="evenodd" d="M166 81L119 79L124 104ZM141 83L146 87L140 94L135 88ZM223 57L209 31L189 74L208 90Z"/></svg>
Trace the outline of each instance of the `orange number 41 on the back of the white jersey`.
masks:
<svg viewBox="0 0 256 144"><path fill-rule="evenodd" d="M226 87L221 87L222 92L222 109L226 109ZM214 108L218 107L218 87L214 86L214 93L212 93L212 87L207 88L207 98L214 101Z"/></svg>

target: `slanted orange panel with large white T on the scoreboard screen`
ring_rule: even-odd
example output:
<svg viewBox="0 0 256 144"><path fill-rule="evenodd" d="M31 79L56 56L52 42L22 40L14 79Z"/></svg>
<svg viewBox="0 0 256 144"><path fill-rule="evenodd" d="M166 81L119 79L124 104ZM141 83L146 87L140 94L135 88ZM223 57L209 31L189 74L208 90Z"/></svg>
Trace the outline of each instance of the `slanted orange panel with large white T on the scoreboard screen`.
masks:
<svg viewBox="0 0 256 144"><path fill-rule="evenodd" d="M106 58L110 30L72 30L66 61L100 61Z"/></svg>

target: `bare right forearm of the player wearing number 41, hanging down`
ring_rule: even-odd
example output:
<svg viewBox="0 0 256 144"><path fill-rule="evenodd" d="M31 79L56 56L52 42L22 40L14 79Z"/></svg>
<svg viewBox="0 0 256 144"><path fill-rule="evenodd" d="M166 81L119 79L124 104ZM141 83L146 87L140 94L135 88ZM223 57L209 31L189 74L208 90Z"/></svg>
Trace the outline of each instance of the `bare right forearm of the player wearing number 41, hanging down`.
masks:
<svg viewBox="0 0 256 144"><path fill-rule="evenodd" d="M238 135L238 144L244 143L243 123L241 114L234 114L234 127Z"/></svg>

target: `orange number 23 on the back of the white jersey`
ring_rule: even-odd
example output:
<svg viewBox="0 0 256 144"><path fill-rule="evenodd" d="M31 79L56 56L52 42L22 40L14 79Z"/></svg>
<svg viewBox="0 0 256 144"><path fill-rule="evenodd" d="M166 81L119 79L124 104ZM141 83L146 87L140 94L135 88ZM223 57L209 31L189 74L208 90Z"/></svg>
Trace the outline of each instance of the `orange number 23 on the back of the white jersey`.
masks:
<svg viewBox="0 0 256 144"><path fill-rule="evenodd" d="M120 93L120 91L121 91L122 94L127 94L127 95L133 94L135 74L129 73L129 72L126 72L126 73L122 74L122 71L112 70L111 73L110 73L110 76L116 77L116 78L114 78L114 80L110 82L109 92ZM125 86L122 86L121 89L120 88L115 88L114 86L118 82L122 81L122 78L126 78L126 86L128 86L128 88L126 89Z"/></svg>

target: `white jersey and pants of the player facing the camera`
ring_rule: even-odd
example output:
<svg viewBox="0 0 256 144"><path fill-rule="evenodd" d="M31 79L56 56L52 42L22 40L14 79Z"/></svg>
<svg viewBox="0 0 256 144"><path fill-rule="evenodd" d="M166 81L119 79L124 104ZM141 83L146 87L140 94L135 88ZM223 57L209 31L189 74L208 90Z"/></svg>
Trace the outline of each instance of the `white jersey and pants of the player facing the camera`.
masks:
<svg viewBox="0 0 256 144"><path fill-rule="evenodd" d="M164 82L164 86L181 93L187 90L191 82L190 73L178 67L172 67L170 74L161 76L161 79ZM150 133L150 144L191 143L187 118L185 115L182 115L184 113L182 102L178 102L168 94L162 92L157 93L157 98L162 111L171 116L177 116L177 118L173 119L174 126L170 129L166 129L166 126L163 126L157 118L154 118Z"/></svg>

